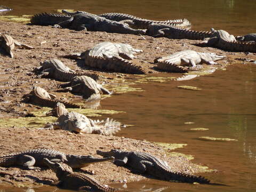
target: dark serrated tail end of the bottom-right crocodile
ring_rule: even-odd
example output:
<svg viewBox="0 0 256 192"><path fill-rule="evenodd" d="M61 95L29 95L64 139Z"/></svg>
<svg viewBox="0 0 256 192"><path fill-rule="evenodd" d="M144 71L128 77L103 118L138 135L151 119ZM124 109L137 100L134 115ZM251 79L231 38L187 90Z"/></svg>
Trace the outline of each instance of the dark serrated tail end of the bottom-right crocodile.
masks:
<svg viewBox="0 0 256 192"><path fill-rule="evenodd" d="M210 180L205 179L202 176L197 176L197 175L191 175L191 174L185 174L185 173L171 173L172 177L169 178L170 180L177 180L181 182L188 182L188 183L193 183L193 182L198 182L201 184L207 184L210 183Z"/></svg>

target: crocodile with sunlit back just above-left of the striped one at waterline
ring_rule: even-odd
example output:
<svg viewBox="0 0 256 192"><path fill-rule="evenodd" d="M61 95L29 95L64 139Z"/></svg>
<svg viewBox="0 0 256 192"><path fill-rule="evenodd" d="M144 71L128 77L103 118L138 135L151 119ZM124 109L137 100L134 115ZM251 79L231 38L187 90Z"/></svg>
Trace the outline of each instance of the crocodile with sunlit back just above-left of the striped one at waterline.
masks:
<svg viewBox="0 0 256 192"><path fill-rule="evenodd" d="M69 82L76 76L86 75L93 79L98 79L96 74L92 73L76 73L68 68L58 59L45 60L40 63L41 67L35 68L33 71L38 74L37 77L50 77L58 81Z"/></svg>

